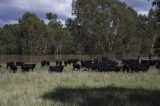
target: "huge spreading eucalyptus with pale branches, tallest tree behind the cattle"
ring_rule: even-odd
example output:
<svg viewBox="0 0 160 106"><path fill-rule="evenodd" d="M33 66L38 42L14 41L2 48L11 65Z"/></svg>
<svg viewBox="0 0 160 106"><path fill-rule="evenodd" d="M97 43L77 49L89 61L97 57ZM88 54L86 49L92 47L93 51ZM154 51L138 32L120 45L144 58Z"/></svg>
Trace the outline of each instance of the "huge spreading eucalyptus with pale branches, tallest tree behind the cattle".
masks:
<svg viewBox="0 0 160 106"><path fill-rule="evenodd" d="M76 0L72 6L78 37L83 34L87 53L103 55L134 49L137 13L125 3L118 0Z"/></svg>

